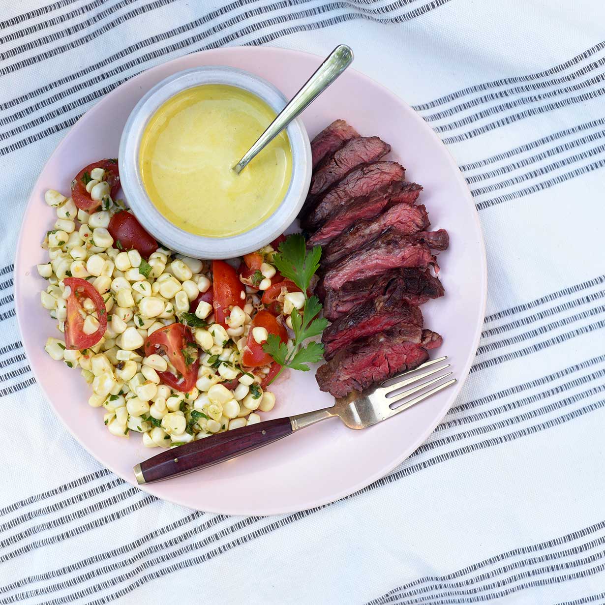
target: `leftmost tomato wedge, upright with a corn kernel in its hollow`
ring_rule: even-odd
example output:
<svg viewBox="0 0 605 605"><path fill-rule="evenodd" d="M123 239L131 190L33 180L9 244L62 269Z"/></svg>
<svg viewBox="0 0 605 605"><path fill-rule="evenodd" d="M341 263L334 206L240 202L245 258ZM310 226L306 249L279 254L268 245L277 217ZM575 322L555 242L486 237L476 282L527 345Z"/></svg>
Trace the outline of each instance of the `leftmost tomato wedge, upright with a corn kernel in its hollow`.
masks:
<svg viewBox="0 0 605 605"><path fill-rule="evenodd" d="M65 346L70 349L82 349L94 347L103 338L107 329L107 310L105 301L97 292L93 284L79 277L66 277L63 280L65 287L71 288L67 299L67 320L65 321ZM97 310L99 328L92 334L85 334L83 327L85 318L82 317L82 302L90 298ZM82 312L82 313L80 313Z"/></svg>

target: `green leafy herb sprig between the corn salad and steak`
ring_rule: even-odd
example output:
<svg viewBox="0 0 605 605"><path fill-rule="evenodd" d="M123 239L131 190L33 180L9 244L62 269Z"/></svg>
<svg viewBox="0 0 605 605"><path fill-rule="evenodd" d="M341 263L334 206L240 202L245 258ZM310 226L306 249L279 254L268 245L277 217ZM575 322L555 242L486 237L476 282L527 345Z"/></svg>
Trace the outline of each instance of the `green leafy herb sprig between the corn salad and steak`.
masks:
<svg viewBox="0 0 605 605"><path fill-rule="evenodd" d="M263 344L263 351L281 365L273 381L284 368L309 371L308 364L318 362L324 355L324 345L321 342L312 341L304 345L307 339L320 335L328 325L327 319L318 317L322 308L319 298L307 295L313 275L319 268L320 259L321 246L307 250L304 237L299 234L290 235L280 244L279 252L273 255L273 264L285 278L292 280L305 296L302 313L297 309L292 310L292 345L289 347L285 342L281 342L280 337L275 334L269 334L267 342Z"/></svg>

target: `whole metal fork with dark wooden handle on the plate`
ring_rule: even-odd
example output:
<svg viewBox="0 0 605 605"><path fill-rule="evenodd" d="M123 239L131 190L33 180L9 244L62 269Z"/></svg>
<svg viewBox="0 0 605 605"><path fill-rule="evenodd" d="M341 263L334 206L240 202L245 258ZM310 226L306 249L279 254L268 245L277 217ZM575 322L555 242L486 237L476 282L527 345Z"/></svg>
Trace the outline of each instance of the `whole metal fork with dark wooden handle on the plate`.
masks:
<svg viewBox="0 0 605 605"><path fill-rule="evenodd" d="M353 391L346 397L336 399L335 404L329 408L258 422L171 448L137 464L134 467L134 475L139 483L151 483L191 473L257 450L267 443L282 439L301 428L333 416L338 416L348 428L371 427L454 384L455 378L441 382L451 376L451 371L442 373L450 367L450 364L431 367L446 359L447 357L431 359L414 370L397 374L362 393ZM430 369L427 370L426 368L429 367ZM419 370L425 371L419 372ZM434 378L428 379L429 376ZM414 386L401 391L402 388L410 385ZM436 386L425 390L431 385ZM415 393L419 394L410 399L410 396Z"/></svg>

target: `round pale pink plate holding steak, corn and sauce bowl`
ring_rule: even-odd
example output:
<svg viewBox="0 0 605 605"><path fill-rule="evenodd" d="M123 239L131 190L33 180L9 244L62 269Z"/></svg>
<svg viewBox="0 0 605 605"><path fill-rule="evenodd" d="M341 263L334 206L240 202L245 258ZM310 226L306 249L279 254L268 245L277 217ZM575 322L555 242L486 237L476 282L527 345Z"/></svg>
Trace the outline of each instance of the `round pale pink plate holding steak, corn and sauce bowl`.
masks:
<svg viewBox="0 0 605 605"><path fill-rule="evenodd" d="M320 62L312 54L281 48L221 48L145 71L108 94L71 128L31 192L15 261L16 309L25 351L68 430L100 463L133 485L132 466L158 450L143 447L137 435L118 439L108 433L103 410L87 404L90 389L79 373L44 352L47 337L56 336L56 322L40 306L39 291L45 281L35 268L46 262L38 242L56 220L54 210L44 203L44 192L54 188L67 194L71 178L82 166L116 157L122 126L134 105L155 83L176 71L232 65L265 77L290 97ZM424 186L422 203L430 211L433 227L450 232L451 247L439 258L446 295L422 310L425 325L443 335L437 353L450 356L459 382L367 430L352 431L338 419L327 420L238 459L143 488L189 508L235 515L299 511L332 502L379 479L427 438L453 404L479 342L486 298L485 249L473 199L445 146L401 99L354 70L346 71L302 116L310 137L336 118L347 120L362 134L382 137L391 143L394 159L408 169L408 178ZM332 403L318 390L312 373L292 372L274 391L278 404L266 418ZM68 397L57 394L66 392Z"/></svg>

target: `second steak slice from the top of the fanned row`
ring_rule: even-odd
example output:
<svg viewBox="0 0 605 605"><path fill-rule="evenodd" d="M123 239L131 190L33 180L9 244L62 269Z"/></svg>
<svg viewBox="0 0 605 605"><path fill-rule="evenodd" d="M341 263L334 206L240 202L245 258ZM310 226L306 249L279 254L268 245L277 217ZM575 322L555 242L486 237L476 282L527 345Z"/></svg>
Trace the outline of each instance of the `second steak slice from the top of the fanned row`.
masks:
<svg viewBox="0 0 605 605"><path fill-rule="evenodd" d="M356 166L378 162L389 151L391 146L379 137L355 137L345 141L333 154L326 155L317 167L309 194L320 194Z"/></svg>

